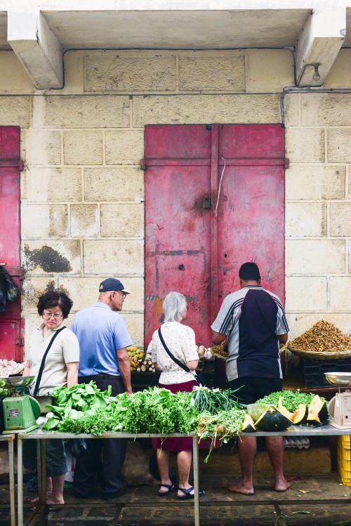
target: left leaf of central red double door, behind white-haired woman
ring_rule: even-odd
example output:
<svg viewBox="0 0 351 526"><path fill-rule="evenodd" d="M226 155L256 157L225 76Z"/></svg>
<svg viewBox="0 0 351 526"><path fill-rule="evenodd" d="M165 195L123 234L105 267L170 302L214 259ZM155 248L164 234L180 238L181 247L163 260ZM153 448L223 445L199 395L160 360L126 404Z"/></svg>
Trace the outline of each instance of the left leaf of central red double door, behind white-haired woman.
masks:
<svg viewBox="0 0 351 526"><path fill-rule="evenodd" d="M194 140L195 139L195 140ZM161 301L181 291L190 305L188 323L204 341L210 316L211 130L204 126L147 126L145 155L145 331L159 324Z"/></svg>

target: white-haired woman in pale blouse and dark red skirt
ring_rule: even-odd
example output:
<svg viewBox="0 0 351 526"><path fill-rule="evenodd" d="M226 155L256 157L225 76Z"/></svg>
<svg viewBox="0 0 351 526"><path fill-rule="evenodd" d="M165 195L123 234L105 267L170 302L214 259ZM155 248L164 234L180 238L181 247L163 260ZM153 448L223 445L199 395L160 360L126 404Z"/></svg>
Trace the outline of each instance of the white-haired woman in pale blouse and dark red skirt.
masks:
<svg viewBox="0 0 351 526"><path fill-rule="evenodd" d="M159 387L166 388L172 393L178 391L191 391L197 382L192 372L197 368L199 355L195 343L195 333L181 322L187 319L187 301L179 292L169 292L163 303L163 323L159 330L154 331L152 341L147 348L147 354L161 371ZM162 341L163 340L163 341ZM168 355L166 347L171 354L190 372L185 371ZM153 440L157 444L157 464L161 477L159 495L176 491L176 485L169 478L169 452L177 452L178 464L178 494L179 500L194 499L194 487L189 483L190 468L192 464L192 438L166 438L162 441ZM204 492L199 492L200 496Z"/></svg>

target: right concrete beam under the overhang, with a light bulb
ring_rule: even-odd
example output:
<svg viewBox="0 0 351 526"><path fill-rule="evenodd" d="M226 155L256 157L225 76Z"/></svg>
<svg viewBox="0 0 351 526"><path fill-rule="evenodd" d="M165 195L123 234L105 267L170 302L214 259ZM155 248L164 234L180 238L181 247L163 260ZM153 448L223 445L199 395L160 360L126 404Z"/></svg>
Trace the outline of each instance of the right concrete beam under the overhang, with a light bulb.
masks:
<svg viewBox="0 0 351 526"><path fill-rule="evenodd" d="M345 6L335 4L332 8L316 9L311 13L303 27L296 49L296 84L298 86L322 86L324 84L343 46L345 34ZM314 65L317 65L317 69ZM319 78L316 78L318 75Z"/></svg>

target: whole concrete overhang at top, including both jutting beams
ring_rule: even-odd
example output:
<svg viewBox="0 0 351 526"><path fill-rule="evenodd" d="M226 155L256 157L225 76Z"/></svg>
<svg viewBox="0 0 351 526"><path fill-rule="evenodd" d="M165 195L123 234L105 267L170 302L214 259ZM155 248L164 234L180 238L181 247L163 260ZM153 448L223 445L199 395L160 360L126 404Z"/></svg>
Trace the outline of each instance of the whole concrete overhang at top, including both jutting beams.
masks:
<svg viewBox="0 0 351 526"><path fill-rule="evenodd" d="M21 0L18 0L19 4ZM109 0L105 0L105 2ZM112 0L110 0L112 2ZM338 4L340 2L342 5ZM190 4L206 4L189 0ZM0 11L0 49L13 49L37 88L62 87L62 53L67 49L229 49L296 48L298 85L313 85L313 65L319 64L321 84L341 46L351 44L351 8L345 15L345 0L316 4L314 10L305 0L263 2L238 1L236 9L225 0L211 8L187 8L159 2L163 8L133 6L133 1L115 1L114 8L96 2L62 0L33 1L37 7L22 6L22 11ZM43 7L39 4L45 4ZM103 8L102 8L103 4ZM117 8L128 4L129 9ZM180 4L182 6L180 7ZM207 2L208 4L208 2ZM273 5L274 4L274 5ZM279 8L279 6L289 8ZM291 6L291 4L294 4ZM324 4L324 8L319 8ZM32 4L31 4L32 5ZM218 8L215 8L215 6ZM165 6L169 6L168 9ZM173 6L173 10L171 7ZM255 8L256 6L256 8ZM40 9L39 9L40 8ZM29 10L29 11L28 11ZM346 39L345 39L346 29ZM316 84L314 82L314 84Z"/></svg>

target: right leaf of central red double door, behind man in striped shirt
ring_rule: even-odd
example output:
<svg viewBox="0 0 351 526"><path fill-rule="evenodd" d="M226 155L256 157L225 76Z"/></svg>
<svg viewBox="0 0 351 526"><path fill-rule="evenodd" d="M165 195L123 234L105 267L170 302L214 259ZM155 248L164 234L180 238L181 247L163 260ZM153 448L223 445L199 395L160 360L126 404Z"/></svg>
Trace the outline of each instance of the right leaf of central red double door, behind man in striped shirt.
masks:
<svg viewBox="0 0 351 526"><path fill-rule="evenodd" d="M284 301L284 130L225 125L219 133L219 296L239 288L241 263L255 261L263 287Z"/></svg>

